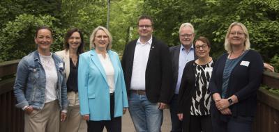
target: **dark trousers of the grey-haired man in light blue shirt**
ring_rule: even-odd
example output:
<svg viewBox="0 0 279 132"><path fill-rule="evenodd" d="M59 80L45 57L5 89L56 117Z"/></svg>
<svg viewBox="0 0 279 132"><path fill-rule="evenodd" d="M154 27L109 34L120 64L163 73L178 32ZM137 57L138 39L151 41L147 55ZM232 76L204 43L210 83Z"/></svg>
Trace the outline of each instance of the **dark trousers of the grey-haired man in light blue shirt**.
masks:
<svg viewBox="0 0 279 132"><path fill-rule="evenodd" d="M179 120L179 117L177 116L177 108L179 106L179 102L177 100L178 96L178 94L174 94L174 97L172 97L172 101L169 104L170 118L172 119L172 132L182 131L182 122Z"/></svg>

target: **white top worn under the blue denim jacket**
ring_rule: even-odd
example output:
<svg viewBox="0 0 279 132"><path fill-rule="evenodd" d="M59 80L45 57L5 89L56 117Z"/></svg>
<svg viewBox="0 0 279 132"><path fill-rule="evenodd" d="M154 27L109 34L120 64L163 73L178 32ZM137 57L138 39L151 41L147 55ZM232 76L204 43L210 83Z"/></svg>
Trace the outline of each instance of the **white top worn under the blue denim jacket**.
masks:
<svg viewBox="0 0 279 132"><path fill-rule="evenodd" d="M45 69L45 103L48 103L58 99L56 94L57 72L52 54L50 56L40 55L40 62Z"/></svg>

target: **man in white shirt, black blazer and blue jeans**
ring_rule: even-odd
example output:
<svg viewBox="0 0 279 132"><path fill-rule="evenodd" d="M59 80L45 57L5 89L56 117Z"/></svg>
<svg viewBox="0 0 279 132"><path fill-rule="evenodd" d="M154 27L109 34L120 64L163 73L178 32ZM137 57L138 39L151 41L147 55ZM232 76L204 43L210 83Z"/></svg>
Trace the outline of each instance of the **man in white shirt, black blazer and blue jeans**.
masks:
<svg viewBox="0 0 279 132"><path fill-rule="evenodd" d="M153 38L152 33L151 17L141 16L140 38L126 45L121 61L136 131L160 131L163 109L167 108L173 92L169 48Z"/></svg>

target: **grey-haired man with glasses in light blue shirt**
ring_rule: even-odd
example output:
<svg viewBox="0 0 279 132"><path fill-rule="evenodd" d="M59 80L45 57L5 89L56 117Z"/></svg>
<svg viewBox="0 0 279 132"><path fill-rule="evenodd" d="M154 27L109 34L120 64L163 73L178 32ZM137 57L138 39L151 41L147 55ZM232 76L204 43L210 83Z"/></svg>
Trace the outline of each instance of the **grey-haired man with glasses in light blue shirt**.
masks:
<svg viewBox="0 0 279 132"><path fill-rule="evenodd" d="M179 40L181 44L171 47L169 50L172 56L172 70L173 76L173 86L174 96L169 105L169 110L172 119L172 132L182 131L181 120L183 115L177 115L178 108L178 94L181 83L181 78L183 74L183 69L191 60L197 58L195 54L195 49L193 48L193 41L195 38L194 27L190 23L183 23L179 28Z"/></svg>

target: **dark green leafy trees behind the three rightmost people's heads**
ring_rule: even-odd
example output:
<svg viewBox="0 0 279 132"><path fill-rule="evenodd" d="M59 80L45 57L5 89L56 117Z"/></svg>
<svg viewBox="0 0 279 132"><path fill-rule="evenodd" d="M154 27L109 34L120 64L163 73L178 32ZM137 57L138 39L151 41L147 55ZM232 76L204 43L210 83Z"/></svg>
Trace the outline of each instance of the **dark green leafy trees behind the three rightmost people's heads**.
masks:
<svg viewBox="0 0 279 132"><path fill-rule="evenodd" d="M190 22L196 37L211 40L214 58L225 52L223 43L229 24L241 22L248 27L251 47L269 61L279 52L278 16L276 0L163 0L144 1L144 13L154 18L155 35L169 46L179 44L179 26Z"/></svg>

